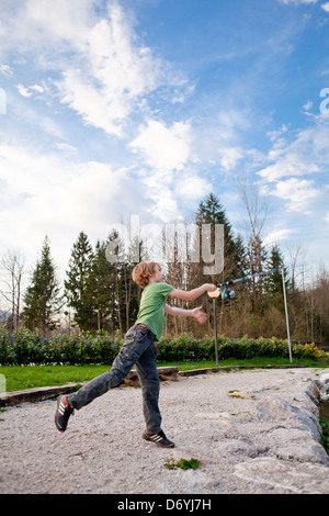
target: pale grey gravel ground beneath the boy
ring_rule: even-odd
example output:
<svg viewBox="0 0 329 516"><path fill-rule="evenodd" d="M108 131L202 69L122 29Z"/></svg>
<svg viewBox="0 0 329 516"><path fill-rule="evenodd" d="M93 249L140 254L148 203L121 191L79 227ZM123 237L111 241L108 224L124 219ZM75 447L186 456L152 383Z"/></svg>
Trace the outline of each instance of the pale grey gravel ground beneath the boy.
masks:
<svg viewBox="0 0 329 516"><path fill-rule="evenodd" d="M329 493L313 369L252 370L161 382L172 450L141 439L139 388L121 386L75 413L55 401L0 413L0 493ZM167 469L195 458L197 470Z"/></svg>

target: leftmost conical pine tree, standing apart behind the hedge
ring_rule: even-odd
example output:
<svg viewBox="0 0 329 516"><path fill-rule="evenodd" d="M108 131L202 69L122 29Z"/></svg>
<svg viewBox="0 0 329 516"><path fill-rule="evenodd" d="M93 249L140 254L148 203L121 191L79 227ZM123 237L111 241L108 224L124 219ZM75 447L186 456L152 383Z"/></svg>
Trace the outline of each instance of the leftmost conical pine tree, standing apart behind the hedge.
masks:
<svg viewBox="0 0 329 516"><path fill-rule="evenodd" d="M45 334L56 327L56 316L63 307L63 296L47 236L43 243L41 259L32 273L31 284L26 289L24 304L22 315L30 329L38 328Z"/></svg>

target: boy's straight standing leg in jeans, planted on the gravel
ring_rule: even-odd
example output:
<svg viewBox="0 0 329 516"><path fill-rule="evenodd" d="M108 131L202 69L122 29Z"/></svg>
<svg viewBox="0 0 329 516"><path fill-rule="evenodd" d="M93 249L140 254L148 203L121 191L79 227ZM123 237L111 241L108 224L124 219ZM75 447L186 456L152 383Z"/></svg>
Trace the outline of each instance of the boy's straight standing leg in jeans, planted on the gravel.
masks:
<svg viewBox="0 0 329 516"><path fill-rule="evenodd" d="M136 362L136 371L141 385L143 411L146 431L157 434L161 430L161 414L159 410L160 380L154 346L149 346Z"/></svg>

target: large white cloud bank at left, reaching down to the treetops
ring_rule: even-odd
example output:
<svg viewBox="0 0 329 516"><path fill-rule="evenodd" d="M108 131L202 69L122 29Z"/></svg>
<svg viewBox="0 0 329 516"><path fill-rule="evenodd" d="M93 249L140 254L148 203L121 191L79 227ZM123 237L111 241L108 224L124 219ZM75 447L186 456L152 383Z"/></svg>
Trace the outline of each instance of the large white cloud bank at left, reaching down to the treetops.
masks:
<svg viewBox="0 0 329 516"><path fill-rule="evenodd" d="M73 164L24 147L0 146L0 182L3 248L22 247L36 259L47 234L61 271L80 231L94 244L106 238L118 214L143 213L146 205L143 188L126 169Z"/></svg>

